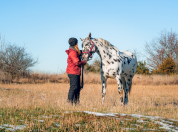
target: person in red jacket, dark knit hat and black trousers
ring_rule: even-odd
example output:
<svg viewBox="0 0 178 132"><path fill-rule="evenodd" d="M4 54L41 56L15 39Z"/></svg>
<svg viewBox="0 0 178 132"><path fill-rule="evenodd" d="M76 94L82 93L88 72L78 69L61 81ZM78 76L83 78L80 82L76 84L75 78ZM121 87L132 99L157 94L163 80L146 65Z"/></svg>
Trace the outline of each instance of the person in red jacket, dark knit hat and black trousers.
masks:
<svg viewBox="0 0 178 132"><path fill-rule="evenodd" d="M68 102L69 103L79 103L80 97L80 75L81 75L81 66L85 65L85 61L81 61L81 51L78 48L78 40L76 38L69 39L69 50L66 50L68 54L67 58L67 69L66 72L70 79L70 89L68 93Z"/></svg>

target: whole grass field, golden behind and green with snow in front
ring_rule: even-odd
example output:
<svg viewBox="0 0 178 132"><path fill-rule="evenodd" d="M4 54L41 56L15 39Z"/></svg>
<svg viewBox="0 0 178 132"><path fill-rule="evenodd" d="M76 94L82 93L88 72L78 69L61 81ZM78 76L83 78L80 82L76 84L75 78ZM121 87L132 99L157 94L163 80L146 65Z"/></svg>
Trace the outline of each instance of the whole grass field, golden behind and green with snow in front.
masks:
<svg viewBox="0 0 178 132"><path fill-rule="evenodd" d="M178 131L178 85L135 81L126 106L114 83L103 105L100 83L85 84L77 106L67 103L68 90L68 83L0 84L0 130Z"/></svg>

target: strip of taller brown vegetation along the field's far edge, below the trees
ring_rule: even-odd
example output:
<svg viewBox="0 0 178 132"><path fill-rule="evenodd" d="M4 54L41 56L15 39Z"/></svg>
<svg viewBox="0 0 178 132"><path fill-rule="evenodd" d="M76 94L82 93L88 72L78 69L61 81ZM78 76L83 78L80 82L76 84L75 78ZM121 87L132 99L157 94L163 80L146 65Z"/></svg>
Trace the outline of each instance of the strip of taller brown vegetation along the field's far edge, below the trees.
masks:
<svg viewBox="0 0 178 132"><path fill-rule="evenodd" d="M0 83L8 83L10 76L0 71ZM14 79L17 84L36 83L69 83L67 73L44 74L32 73L20 79ZM101 84L101 75L98 73L84 73L84 84ZM115 79L108 79L107 84L117 84ZM133 85L175 85L178 84L178 75L141 75L136 74L133 78Z"/></svg>

